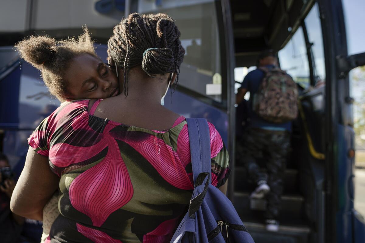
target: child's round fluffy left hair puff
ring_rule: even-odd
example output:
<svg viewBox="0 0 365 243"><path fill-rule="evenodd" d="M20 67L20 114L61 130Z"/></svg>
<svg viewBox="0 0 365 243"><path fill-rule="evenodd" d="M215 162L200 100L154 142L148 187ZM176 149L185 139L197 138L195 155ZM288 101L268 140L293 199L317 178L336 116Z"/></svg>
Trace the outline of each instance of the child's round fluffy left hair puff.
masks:
<svg viewBox="0 0 365 243"><path fill-rule="evenodd" d="M47 66L56 53L56 40L47 36L31 36L15 45L20 57L41 69Z"/></svg>

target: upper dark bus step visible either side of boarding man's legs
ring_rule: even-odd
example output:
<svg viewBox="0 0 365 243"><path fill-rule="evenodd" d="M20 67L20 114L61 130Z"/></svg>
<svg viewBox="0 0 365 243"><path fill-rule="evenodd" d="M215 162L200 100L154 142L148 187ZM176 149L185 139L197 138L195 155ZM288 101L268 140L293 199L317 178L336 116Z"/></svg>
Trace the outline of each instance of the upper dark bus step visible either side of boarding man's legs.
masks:
<svg viewBox="0 0 365 243"><path fill-rule="evenodd" d="M286 169L284 173L284 193L295 194L299 190L298 171L296 169ZM247 180L246 169L243 167L235 168L235 191L252 192L255 185Z"/></svg>

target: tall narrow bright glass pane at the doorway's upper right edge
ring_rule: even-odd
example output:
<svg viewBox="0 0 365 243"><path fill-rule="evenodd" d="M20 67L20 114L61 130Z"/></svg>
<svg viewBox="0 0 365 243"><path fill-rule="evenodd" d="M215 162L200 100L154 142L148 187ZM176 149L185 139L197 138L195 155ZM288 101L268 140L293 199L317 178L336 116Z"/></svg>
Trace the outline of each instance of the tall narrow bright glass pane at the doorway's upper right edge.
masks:
<svg viewBox="0 0 365 243"><path fill-rule="evenodd" d="M324 51L322 39L322 27L319 18L318 5L315 4L304 20L306 24L308 39L312 44L312 56L314 61L314 77L315 81L325 81L326 73L324 66Z"/></svg>

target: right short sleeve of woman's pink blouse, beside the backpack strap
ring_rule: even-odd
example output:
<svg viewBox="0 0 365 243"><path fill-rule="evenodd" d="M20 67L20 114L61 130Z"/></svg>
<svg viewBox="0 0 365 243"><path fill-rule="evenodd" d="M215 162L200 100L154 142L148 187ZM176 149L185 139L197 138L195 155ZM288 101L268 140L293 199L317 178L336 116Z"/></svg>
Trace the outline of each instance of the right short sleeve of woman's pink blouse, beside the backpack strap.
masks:
<svg viewBox="0 0 365 243"><path fill-rule="evenodd" d="M221 187L230 175L229 156L220 134L214 125L208 122L211 148L212 185Z"/></svg>

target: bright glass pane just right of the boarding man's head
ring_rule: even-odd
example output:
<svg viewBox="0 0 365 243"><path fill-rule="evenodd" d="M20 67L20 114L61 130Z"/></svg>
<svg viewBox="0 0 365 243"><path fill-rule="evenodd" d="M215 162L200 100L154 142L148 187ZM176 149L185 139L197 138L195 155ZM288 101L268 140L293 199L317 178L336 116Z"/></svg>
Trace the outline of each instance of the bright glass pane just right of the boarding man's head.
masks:
<svg viewBox="0 0 365 243"><path fill-rule="evenodd" d="M307 48L301 27L295 32L286 46L278 52L281 69L288 72L303 88L310 85Z"/></svg>

